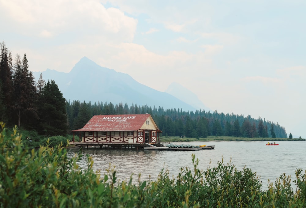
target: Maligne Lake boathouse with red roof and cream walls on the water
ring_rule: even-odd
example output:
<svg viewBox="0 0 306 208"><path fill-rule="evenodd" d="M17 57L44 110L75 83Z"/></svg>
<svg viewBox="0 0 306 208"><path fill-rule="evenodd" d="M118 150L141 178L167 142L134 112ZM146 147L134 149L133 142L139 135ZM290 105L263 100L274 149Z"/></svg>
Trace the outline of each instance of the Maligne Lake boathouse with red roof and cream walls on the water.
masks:
<svg viewBox="0 0 306 208"><path fill-rule="evenodd" d="M158 143L159 133L150 114L94 115L85 126L72 130L78 145L144 146ZM75 133L79 137L75 138Z"/></svg>

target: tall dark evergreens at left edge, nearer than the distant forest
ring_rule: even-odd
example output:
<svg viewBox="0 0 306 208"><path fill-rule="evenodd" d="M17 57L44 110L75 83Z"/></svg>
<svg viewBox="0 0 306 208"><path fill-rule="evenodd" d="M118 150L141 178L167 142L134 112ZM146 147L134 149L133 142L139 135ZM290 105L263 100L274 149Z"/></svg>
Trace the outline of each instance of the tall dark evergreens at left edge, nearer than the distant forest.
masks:
<svg viewBox="0 0 306 208"><path fill-rule="evenodd" d="M45 135L67 134L65 98L54 80L40 76L35 83L26 54L21 60L0 44L0 119L8 125L36 130Z"/></svg>

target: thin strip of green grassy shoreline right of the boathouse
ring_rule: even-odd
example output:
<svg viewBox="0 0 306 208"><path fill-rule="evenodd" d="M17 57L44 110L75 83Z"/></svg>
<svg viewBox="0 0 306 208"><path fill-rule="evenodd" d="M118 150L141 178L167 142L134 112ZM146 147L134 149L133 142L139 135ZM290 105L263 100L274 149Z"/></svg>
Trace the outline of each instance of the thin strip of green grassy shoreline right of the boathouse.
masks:
<svg viewBox="0 0 306 208"><path fill-rule="evenodd" d="M161 136L161 142L207 142L207 141L305 141L306 139L299 138L245 138L245 137L232 137L232 136L208 136L207 138L181 138Z"/></svg>

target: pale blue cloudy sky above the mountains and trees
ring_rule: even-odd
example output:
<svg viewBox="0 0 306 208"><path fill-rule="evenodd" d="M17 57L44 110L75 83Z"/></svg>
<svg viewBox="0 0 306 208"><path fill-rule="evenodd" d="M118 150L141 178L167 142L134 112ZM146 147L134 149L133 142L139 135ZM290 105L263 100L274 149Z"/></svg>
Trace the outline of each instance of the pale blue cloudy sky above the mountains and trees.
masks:
<svg viewBox="0 0 306 208"><path fill-rule="evenodd" d="M306 138L305 9L304 0L0 0L0 41L31 71L68 73L86 56Z"/></svg>

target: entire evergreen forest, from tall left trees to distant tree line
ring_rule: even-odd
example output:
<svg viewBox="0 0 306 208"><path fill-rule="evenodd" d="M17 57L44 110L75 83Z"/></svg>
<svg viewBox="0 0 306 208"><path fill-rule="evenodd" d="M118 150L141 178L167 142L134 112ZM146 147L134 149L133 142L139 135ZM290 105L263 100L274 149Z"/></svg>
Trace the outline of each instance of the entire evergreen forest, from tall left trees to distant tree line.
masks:
<svg viewBox="0 0 306 208"><path fill-rule="evenodd" d="M40 135L67 135L82 128L93 115L151 114L164 136L206 138L235 136L247 138L287 138L285 128L266 119L234 113L184 111L127 103L66 101L54 80L35 80L26 54L12 52L0 43L0 121ZM81 98L80 98L81 99Z"/></svg>

